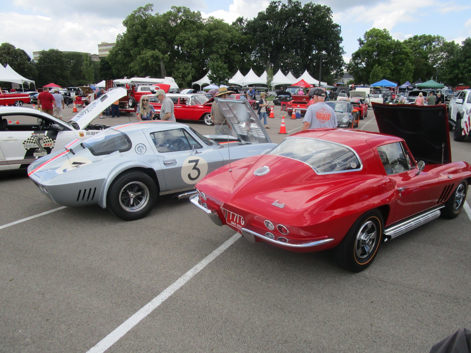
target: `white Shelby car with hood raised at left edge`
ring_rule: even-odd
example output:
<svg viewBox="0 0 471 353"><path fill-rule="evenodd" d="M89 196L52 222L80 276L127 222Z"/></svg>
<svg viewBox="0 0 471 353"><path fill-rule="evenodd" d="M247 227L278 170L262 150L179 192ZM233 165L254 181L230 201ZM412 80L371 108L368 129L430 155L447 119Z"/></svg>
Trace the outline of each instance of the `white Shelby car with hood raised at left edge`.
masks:
<svg viewBox="0 0 471 353"><path fill-rule="evenodd" d="M124 88L107 92L78 112L70 123L32 108L0 107L0 172L27 168L38 158L63 150L75 139L85 140L108 128L90 123L123 96Z"/></svg>

